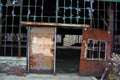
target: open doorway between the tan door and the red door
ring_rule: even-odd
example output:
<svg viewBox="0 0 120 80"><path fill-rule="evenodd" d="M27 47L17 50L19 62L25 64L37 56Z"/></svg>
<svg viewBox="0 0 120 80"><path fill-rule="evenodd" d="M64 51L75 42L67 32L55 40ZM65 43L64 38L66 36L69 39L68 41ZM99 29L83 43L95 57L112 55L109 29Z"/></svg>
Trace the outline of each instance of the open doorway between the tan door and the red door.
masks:
<svg viewBox="0 0 120 80"><path fill-rule="evenodd" d="M57 29L56 73L79 73L81 42L81 29Z"/></svg>

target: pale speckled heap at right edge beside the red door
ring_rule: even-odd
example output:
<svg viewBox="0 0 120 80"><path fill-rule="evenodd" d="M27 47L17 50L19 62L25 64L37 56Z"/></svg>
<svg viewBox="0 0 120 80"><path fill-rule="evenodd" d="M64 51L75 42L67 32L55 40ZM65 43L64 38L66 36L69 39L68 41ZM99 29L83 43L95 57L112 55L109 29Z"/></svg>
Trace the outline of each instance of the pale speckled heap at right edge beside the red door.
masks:
<svg viewBox="0 0 120 80"><path fill-rule="evenodd" d="M112 71L118 75L120 75L120 55L119 54L112 54L111 58L112 64Z"/></svg>

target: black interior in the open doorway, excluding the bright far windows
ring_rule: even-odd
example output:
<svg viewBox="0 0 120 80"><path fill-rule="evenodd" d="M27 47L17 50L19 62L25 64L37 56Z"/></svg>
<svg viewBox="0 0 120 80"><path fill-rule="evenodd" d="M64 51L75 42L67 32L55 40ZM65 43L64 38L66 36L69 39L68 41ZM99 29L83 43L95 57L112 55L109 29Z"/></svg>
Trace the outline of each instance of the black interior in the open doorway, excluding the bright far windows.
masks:
<svg viewBox="0 0 120 80"><path fill-rule="evenodd" d="M71 28L58 28L57 34L62 34L65 36L69 35L82 35L82 29L71 29ZM63 37L64 38L64 37ZM63 42L58 44L56 50L56 72L57 73L79 73L79 64L80 64L80 53L81 53L81 44L75 43L71 46L63 46ZM77 47L77 48L73 48Z"/></svg>

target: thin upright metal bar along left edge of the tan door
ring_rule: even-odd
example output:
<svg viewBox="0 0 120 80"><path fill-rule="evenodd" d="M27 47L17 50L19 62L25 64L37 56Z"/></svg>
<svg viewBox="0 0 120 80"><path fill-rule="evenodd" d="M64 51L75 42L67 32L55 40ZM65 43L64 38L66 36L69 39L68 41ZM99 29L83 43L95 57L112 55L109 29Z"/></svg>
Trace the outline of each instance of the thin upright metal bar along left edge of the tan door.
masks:
<svg viewBox="0 0 120 80"><path fill-rule="evenodd" d="M30 72L30 26L27 27L27 72Z"/></svg>

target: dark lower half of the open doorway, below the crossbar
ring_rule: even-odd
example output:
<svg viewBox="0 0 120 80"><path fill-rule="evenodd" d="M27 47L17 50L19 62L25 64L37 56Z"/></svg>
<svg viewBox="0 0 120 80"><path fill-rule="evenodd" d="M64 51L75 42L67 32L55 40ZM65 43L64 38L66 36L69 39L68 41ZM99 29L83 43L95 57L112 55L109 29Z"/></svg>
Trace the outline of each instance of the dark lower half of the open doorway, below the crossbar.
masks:
<svg viewBox="0 0 120 80"><path fill-rule="evenodd" d="M79 73L80 49L57 49L57 73Z"/></svg>

